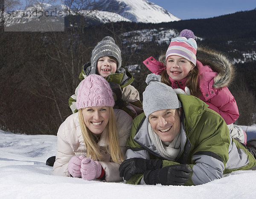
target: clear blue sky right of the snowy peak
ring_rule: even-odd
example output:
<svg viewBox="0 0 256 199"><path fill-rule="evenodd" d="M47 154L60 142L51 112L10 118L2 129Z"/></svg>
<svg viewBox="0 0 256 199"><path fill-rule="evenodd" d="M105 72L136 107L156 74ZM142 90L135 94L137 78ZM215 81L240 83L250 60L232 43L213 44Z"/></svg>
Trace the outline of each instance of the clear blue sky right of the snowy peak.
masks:
<svg viewBox="0 0 256 199"><path fill-rule="evenodd" d="M176 17L200 19L253 10L256 0L149 0Z"/></svg>

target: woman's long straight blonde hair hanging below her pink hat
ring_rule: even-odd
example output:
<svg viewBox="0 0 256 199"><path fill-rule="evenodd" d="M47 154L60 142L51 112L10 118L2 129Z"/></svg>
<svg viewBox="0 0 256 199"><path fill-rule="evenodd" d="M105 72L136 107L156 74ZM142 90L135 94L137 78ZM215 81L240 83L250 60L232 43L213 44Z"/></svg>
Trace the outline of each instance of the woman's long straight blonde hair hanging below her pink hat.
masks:
<svg viewBox="0 0 256 199"><path fill-rule="evenodd" d="M114 115L113 107L109 107L109 109L110 109L109 121L108 121L108 125L106 126L108 128L107 140L106 140L108 143L108 147L106 147L106 151L109 150L109 153L111 155L113 162L119 163L124 161L124 157L119 146L118 133L116 129L116 118ZM87 126L84 123L82 110L83 109L78 110L78 115L79 115L79 123L81 126L82 136L84 138L85 147L87 149L86 156L90 157L93 160L99 161L103 158L104 154L100 152L99 147L93 136L93 133L87 128Z"/></svg>

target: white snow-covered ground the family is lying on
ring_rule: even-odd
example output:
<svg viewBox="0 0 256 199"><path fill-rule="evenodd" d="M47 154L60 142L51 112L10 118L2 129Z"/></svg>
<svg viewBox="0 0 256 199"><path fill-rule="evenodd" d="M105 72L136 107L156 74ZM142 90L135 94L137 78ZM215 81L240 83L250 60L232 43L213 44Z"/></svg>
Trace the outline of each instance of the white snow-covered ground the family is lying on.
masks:
<svg viewBox="0 0 256 199"><path fill-rule="evenodd" d="M256 127L243 127L256 137ZM255 198L256 171L236 171L222 179L198 186L126 185L122 182L85 181L52 176L45 165L55 155L56 136L24 135L0 130L1 199L142 199ZM250 136L249 136L250 137Z"/></svg>

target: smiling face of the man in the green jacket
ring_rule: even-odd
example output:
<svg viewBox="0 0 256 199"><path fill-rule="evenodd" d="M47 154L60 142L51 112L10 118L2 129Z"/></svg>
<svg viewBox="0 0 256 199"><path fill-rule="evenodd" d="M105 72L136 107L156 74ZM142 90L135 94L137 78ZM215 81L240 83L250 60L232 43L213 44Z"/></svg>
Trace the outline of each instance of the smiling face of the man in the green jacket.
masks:
<svg viewBox="0 0 256 199"><path fill-rule="evenodd" d="M180 132L181 109L158 110L148 115L148 121L157 136L171 142Z"/></svg>

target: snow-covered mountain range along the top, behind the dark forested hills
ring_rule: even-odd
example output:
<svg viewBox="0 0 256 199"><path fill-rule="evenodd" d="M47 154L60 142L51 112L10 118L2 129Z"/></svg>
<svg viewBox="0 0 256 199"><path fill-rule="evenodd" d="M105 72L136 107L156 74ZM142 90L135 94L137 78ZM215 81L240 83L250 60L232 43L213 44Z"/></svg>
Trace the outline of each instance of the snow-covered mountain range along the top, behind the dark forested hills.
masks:
<svg viewBox="0 0 256 199"><path fill-rule="evenodd" d="M56 13L58 14L56 15ZM27 25L27 23L33 26L33 22L40 21L43 17L49 20L48 22L54 21L55 25L53 26L56 26L58 23L63 24L64 17L68 15L81 15L87 20L88 25L119 21L161 23L180 20L162 7L147 0L99 0L93 6L88 6L87 10L78 12L74 12L67 5L36 3L24 10L5 12L3 15L5 27Z"/></svg>

